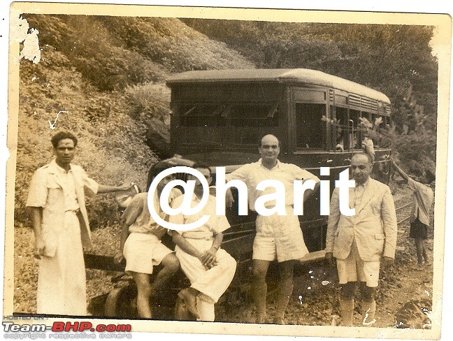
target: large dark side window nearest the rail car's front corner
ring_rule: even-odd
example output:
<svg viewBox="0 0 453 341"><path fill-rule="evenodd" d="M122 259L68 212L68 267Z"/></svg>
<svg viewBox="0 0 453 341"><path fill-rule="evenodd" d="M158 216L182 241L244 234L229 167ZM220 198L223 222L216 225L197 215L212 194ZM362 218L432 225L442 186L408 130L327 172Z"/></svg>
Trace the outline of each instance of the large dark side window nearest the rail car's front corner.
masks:
<svg viewBox="0 0 453 341"><path fill-rule="evenodd" d="M296 103L296 145L302 148L324 146L324 104Z"/></svg>

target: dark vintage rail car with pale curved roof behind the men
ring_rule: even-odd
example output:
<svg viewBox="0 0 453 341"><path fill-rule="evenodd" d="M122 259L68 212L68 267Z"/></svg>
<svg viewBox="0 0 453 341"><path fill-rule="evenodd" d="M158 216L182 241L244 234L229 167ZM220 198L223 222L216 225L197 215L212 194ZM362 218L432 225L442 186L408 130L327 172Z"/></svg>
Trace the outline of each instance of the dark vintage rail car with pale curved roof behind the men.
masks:
<svg viewBox="0 0 453 341"><path fill-rule="evenodd" d="M259 141L271 133L280 140L280 161L330 180L333 191L338 174L350 165L364 136L371 133L372 177L389 181L391 150L381 137L391 122L391 103L375 89L303 68L188 71L173 75L166 84L171 88L175 157L155 164L149 177L168 164L192 166L194 162L208 164L213 175L216 167L230 173L257 161ZM320 167L329 167L330 175L321 176ZM237 195L233 191L236 205ZM222 248L238 262L231 286L244 289L251 277L256 212L238 215L236 206L227 210L227 218L231 228L224 232ZM299 221L310 251L305 260L324 259L327 216L319 214L319 192L304 203ZM164 243L173 246L169 238ZM110 293L109 316L121 307L120 297L124 300L131 295L124 289Z"/></svg>

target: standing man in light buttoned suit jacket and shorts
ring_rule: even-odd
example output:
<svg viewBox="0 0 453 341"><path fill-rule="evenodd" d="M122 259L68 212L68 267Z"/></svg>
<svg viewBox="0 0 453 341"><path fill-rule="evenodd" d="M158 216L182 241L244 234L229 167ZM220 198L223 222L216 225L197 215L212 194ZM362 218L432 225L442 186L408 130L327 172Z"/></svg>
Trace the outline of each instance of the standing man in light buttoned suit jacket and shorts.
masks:
<svg viewBox="0 0 453 341"><path fill-rule="evenodd" d="M352 326L354 291L359 282L364 303L363 325L375 323L375 288L380 262L394 263L396 248L396 212L391 191L370 177L373 163L360 152L351 159L350 170L355 187L350 188L350 208L355 215L346 216L339 209L339 189L333 190L326 236L326 259L336 259L341 288L340 312L343 326ZM342 198L343 200L343 198Z"/></svg>

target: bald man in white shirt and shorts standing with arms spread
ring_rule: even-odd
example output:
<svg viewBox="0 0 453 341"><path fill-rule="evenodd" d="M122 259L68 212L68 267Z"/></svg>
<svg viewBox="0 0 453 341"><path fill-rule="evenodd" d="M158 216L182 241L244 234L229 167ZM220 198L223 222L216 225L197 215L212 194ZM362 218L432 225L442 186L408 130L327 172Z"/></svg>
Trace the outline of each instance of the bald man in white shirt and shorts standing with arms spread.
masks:
<svg viewBox="0 0 453 341"><path fill-rule="evenodd" d="M280 292L275 310L274 324L285 324L285 310L293 290L293 270L295 261L308 254L303 241L299 217L294 215L294 180L315 180L315 188L305 191L304 201L319 186L319 179L294 164L284 164L278 160L280 142L273 135L261 138L259 144L261 159L252 164L245 164L226 176L229 180L242 180L247 184L250 210L255 210L254 203L262 195L272 194L275 188L257 190L257 184L263 180L279 180L285 186L286 215L258 215L257 235L253 242L253 278L252 298L257 307L257 323L267 322L266 317L266 275L271 261L278 261L280 268ZM275 201L267 201L266 208L273 208Z"/></svg>

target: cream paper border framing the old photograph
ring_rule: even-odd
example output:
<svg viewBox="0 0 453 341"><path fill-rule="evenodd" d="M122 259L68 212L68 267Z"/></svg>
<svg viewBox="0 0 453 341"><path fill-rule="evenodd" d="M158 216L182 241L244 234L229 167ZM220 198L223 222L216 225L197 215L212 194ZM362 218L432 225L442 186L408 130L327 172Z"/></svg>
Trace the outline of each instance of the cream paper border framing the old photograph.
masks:
<svg viewBox="0 0 453 341"><path fill-rule="evenodd" d="M450 95L450 51L451 51L451 22L445 15L412 14L412 13L357 13L325 12L307 10L265 10L243 8L196 8L196 7L164 7L164 6L127 6L106 4L63 4L63 3L14 3L10 15L19 13L66 13L66 14L98 14L122 16L156 16L156 17L206 17L223 19L244 19L291 22L357 22L367 24L430 24L441 29L439 37L438 63L438 147L436 164L447 164L447 128ZM149 14L148 14L149 13ZM303 20L305 18L305 20ZM445 33L445 34L443 34ZM442 36L443 34L443 36ZM10 159L6 168L6 231L5 231L5 274L3 283L3 315L13 311L13 208L14 208L14 175L15 152L17 146L17 110L18 110L18 56L19 44L10 41L9 52L9 79L8 79L8 149ZM445 226L445 190L447 169L436 167L436 227ZM436 230L434 240L434 257L443 258L444 231ZM200 323L181 321L131 321L134 331L152 331L166 333L215 333L215 334L248 334L248 335L299 335L299 336L338 336L363 338L403 338L403 339L435 339L440 335L441 307L443 298L443 262L436 263L433 277L433 328L431 330L396 330L387 328L338 328L324 326L274 326L227 324L227 323ZM58 319L48 319L46 323ZM68 321L80 319L68 319ZM96 319L101 323L118 323L124 320ZM449 321L445 320L445 323Z"/></svg>

